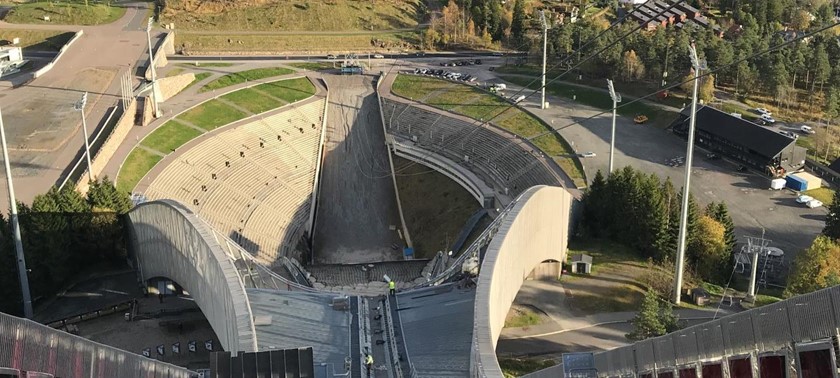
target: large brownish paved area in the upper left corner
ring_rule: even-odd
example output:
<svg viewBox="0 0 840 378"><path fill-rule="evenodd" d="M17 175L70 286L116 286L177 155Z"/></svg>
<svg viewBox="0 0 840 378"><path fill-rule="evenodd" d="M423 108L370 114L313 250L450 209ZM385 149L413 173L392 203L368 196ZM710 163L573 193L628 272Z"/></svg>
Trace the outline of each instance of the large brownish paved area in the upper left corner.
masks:
<svg viewBox="0 0 840 378"><path fill-rule="evenodd" d="M116 4L115 4L116 5ZM7 133L17 200L30 203L37 195L58 184L65 169L83 156L80 112L73 109L87 91L85 107L88 136L104 124L109 109L120 95L119 75L136 70L147 57L146 9L148 3L120 3L125 15L114 23L98 26L24 25L0 22L0 29L83 30L80 37L45 75L31 79L22 72L0 81L0 108ZM148 58L145 59L146 61ZM135 78L134 83L139 83ZM9 197L0 185L0 208Z"/></svg>

